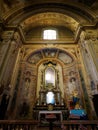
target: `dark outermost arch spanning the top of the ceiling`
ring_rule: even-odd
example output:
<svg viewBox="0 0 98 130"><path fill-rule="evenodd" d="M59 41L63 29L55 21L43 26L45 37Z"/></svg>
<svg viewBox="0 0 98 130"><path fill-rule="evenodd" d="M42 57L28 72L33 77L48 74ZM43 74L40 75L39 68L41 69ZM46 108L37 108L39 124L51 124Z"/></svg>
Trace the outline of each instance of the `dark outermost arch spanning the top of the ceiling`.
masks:
<svg viewBox="0 0 98 130"><path fill-rule="evenodd" d="M55 6L55 8L57 8L58 11L60 11L61 9L63 9L63 10L67 9L68 11L71 10L71 12L72 12L72 10L75 10L75 13L81 15L82 17L85 17L84 16L84 14L85 14L87 16L87 19L90 19L90 18L94 19L95 18L95 14L89 8L87 8L87 7L85 8L85 6L81 7L81 4L78 4L78 6L77 6L77 4L75 4L73 2L62 2L62 3L61 3L61 1L60 2L57 2L57 1L53 2L53 1L51 1L51 2L52 2L52 4L49 1L48 1L48 3L47 2L45 3L45 1L44 1L44 3L41 2L40 4L34 2L33 4L31 4L31 3L30 4L24 4L24 7L22 7L20 5L13 12L12 11L10 13L7 12L9 14L6 14L5 16L3 16L3 18L6 21L9 21L9 20L11 20L13 18L13 16L17 16L18 14L22 14L23 15L23 13L27 14L27 12L30 12L30 14L27 15L27 16L30 16L30 15L33 15L35 13L53 10L54 6ZM31 9L33 9L32 13L31 13Z"/></svg>

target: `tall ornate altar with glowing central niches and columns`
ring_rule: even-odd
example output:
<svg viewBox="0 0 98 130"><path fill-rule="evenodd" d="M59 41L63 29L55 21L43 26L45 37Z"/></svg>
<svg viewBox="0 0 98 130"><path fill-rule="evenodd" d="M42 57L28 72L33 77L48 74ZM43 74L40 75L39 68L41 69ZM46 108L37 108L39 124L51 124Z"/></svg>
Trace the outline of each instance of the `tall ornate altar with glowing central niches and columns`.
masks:
<svg viewBox="0 0 98 130"><path fill-rule="evenodd" d="M41 71L38 97L33 107L33 119L47 122L46 117L54 114L55 122L61 122L68 117L68 109L59 85L59 72L55 69L54 63L46 63L45 69Z"/></svg>

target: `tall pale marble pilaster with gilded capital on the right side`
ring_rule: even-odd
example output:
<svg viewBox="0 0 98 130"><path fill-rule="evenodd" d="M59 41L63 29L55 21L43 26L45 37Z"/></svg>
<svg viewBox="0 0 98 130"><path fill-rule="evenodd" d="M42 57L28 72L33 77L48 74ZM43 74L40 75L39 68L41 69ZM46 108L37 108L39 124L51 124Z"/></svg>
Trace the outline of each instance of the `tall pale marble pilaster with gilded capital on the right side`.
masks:
<svg viewBox="0 0 98 130"><path fill-rule="evenodd" d="M80 35L80 52L83 60L82 71L84 74L85 87L88 94L88 106L91 106L89 113L93 113L93 118L96 118L92 98L93 94L98 93L97 83L98 83L98 62L97 62L97 51L98 50L98 30L85 30ZM94 45L95 44L95 45ZM96 46L96 48L95 48ZM92 86L91 82L94 83ZM85 97L86 98L86 97ZM85 99L86 101L87 99ZM89 108L87 108L89 110Z"/></svg>

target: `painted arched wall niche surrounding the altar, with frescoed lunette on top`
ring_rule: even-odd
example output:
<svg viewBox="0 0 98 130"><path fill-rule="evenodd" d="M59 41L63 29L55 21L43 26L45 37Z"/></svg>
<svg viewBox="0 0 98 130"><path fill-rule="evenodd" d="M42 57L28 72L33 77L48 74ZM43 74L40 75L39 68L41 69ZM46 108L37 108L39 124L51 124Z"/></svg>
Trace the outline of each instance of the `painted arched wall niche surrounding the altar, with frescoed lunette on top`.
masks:
<svg viewBox="0 0 98 130"><path fill-rule="evenodd" d="M42 81L44 77L42 75L47 65L57 70L59 82L56 82L58 82L66 105L70 107L74 94L79 97L82 104L83 97L79 92L81 83L78 68L76 59L71 53L58 48L44 48L29 54L22 64L25 67L21 70L23 78L20 78L17 112L19 113L20 111L21 113L23 106L26 105L28 113L25 115L21 113L21 118L32 118L31 109L39 97L41 86L44 85L44 81ZM16 116L20 118L19 114Z"/></svg>

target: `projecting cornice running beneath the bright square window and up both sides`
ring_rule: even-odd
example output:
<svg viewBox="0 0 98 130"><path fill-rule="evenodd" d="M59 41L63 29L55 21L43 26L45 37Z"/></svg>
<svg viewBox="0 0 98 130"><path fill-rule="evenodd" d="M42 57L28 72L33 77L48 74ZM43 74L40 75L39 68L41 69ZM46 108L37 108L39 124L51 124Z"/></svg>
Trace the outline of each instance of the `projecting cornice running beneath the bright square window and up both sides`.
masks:
<svg viewBox="0 0 98 130"><path fill-rule="evenodd" d="M93 25L86 25L86 26L81 26L79 25L78 29L77 29L77 32L76 32L76 35L75 35L75 38L65 38L65 39L59 39L59 40L39 40L39 39L31 39L31 40L26 40L25 38L25 35L23 33L23 30L21 28L21 26L6 26L5 27L5 30L14 30L17 31L20 36L21 36L21 39L22 39L22 42L24 45L47 45L47 44L51 44L53 46L56 46L56 45L60 45L60 44L77 44L79 39L80 39L80 35L81 35L81 32L82 31L85 31L86 30L95 30L98 28L98 22L96 24L93 24Z"/></svg>

